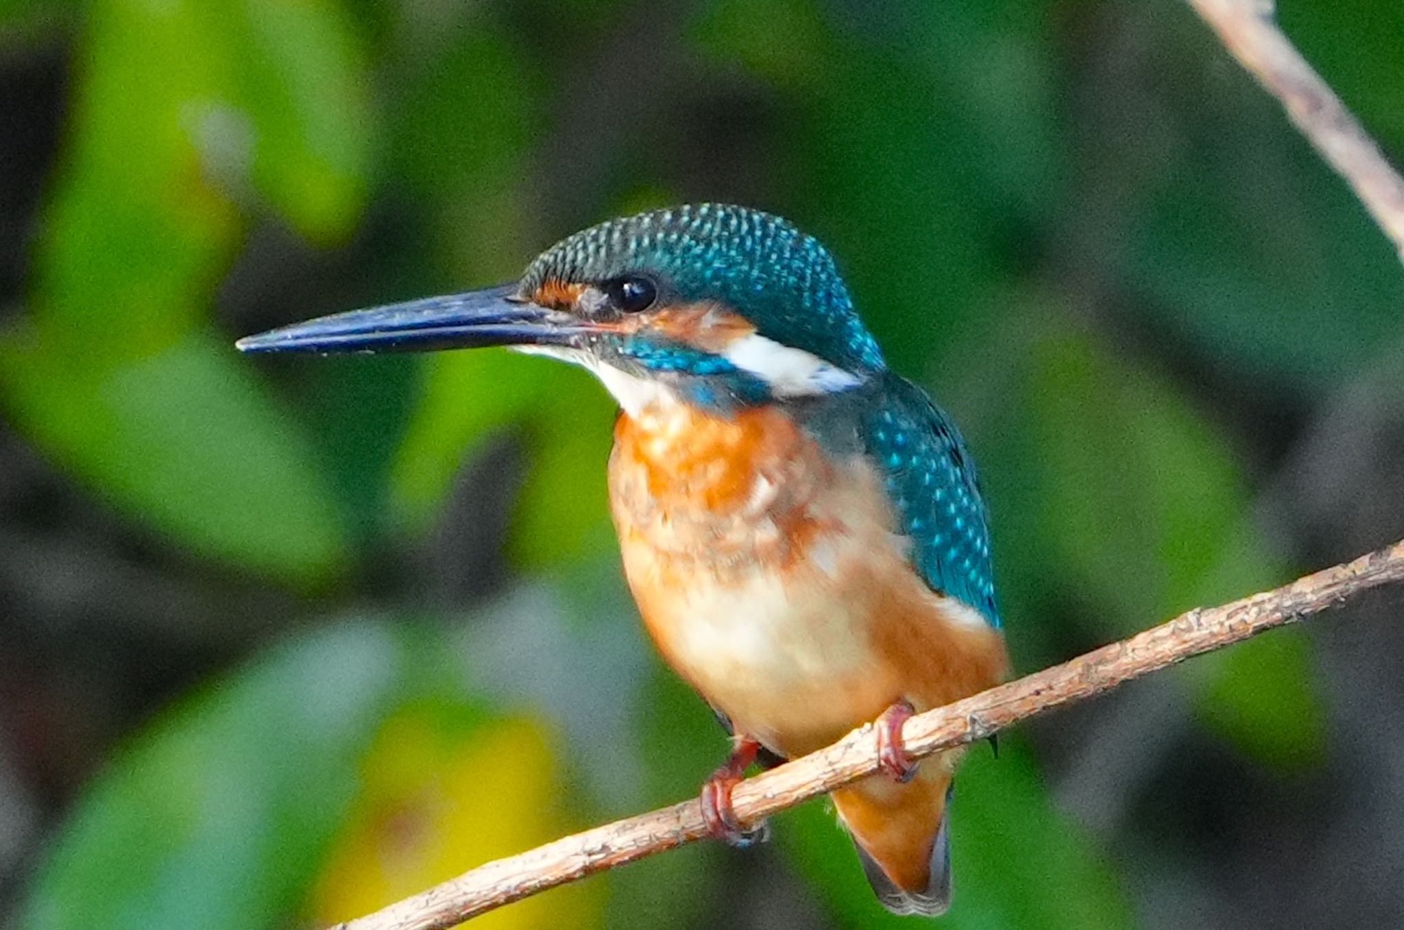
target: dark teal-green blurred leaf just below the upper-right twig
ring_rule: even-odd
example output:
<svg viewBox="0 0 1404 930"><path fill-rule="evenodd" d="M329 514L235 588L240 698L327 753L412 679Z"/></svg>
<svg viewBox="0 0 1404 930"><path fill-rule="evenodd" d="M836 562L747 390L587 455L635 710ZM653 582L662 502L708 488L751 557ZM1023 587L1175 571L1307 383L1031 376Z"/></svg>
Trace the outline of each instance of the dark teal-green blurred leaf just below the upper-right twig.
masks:
<svg viewBox="0 0 1404 930"><path fill-rule="evenodd" d="M1272 188L1285 191L1258 208L1272 210L1266 224L1224 210L1240 178L1185 166L1147 210L1129 276L1154 297L1146 311L1196 351L1307 394L1397 338L1404 278L1349 191L1313 153L1289 153L1296 170Z"/></svg>

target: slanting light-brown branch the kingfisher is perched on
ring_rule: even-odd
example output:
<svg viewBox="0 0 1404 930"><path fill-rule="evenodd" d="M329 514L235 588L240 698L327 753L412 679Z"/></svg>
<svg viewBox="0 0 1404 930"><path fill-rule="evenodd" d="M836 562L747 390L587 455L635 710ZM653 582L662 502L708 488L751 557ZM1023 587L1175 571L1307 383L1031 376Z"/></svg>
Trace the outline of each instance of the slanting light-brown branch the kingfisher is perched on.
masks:
<svg viewBox="0 0 1404 930"><path fill-rule="evenodd" d="M1195 609L1129 640L1105 645L1008 685L918 714L903 727L913 756L983 739L1122 682L1223 648L1344 603L1369 588L1404 581L1404 540L1290 585L1219 607ZM870 725L837 743L736 786L744 825L878 771ZM708 835L696 801L597 826L500 858L334 930L442 930L548 888L632 863Z"/></svg>

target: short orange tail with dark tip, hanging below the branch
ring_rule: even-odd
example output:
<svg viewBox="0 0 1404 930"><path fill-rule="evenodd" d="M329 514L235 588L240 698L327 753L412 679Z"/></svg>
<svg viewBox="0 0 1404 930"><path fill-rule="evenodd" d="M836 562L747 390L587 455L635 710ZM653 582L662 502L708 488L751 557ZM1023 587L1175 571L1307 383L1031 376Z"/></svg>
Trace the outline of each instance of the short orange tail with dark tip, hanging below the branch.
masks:
<svg viewBox="0 0 1404 930"><path fill-rule="evenodd" d="M868 884L896 915L935 917L951 906L949 791L951 764L936 756L908 784L873 776L833 794Z"/></svg>

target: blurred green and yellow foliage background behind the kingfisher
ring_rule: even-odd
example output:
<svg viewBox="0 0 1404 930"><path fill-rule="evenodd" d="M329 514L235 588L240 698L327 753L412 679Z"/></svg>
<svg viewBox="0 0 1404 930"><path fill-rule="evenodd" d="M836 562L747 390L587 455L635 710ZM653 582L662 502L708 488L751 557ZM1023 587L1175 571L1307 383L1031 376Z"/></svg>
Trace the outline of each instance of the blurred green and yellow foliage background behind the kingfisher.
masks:
<svg viewBox="0 0 1404 930"><path fill-rule="evenodd" d="M1398 0L1280 15L1404 154ZM1404 536L1404 272L1177 0L0 0L0 926L314 926L696 790L601 389L232 341L699 199L966 429L1021 670ZM1401 607L976 748L942 926L1404 926ZM775 832L482 926L917 926Z"/></svg>

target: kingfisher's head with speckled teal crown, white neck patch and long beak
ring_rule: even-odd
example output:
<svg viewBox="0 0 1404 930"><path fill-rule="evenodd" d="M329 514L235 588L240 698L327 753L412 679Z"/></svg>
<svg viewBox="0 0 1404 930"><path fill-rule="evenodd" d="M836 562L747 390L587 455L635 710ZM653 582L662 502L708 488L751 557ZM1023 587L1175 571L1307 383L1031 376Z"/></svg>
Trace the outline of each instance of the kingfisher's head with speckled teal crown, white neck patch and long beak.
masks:
<svg viewBox="0 0 1404 930"><path fill-rule="evenodd" d="M885 368L828 251L788 222L702 203L601 223L521 281L341 313L246 352L505 345L584 365L625 410L736 408L851 390Z"/></svg>

